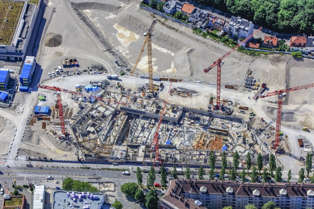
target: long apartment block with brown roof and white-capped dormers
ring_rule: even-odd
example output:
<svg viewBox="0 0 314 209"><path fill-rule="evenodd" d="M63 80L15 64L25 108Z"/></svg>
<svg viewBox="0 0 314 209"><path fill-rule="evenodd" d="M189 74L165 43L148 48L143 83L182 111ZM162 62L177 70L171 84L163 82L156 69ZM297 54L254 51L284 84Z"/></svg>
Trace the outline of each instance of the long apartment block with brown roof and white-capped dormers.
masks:
<svg viewBox="0 0 314 209"><path fill-rule="evenodd" d="M218 180L170 181L166 194L160 199L161 208L221 209L232 206L242 209L248 204L257 208L273 201L282 209L312 208L314 185L308 183L242 183ZM197 205L197 206L195 206Z"/></svg>

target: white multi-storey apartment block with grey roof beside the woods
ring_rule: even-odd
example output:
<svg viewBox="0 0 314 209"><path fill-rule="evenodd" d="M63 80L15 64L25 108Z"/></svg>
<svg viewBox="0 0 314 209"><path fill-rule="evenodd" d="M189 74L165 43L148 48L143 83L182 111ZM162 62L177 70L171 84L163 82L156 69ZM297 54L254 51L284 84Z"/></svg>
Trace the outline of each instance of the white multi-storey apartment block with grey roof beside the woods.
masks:
<svg viewBox="0 0 314 209"><path fill-rule="evenodd" d="M254 24L251 21L243 19L240 16L232 16L228 27L228 36L234 40L245 39L253 33L253 29Z"/></svg>

